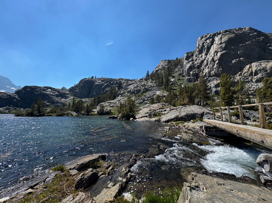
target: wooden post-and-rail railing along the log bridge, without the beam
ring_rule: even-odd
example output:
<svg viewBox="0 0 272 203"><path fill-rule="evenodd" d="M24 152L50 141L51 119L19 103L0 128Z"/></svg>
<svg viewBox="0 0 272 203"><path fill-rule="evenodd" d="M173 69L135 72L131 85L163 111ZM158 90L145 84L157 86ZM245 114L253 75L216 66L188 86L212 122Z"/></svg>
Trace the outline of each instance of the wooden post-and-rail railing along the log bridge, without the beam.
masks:
<svg viewBox="0 0 272 203"><path fill-rule="evenodd" d="M214 109L219 109L220 111L220 116L221 116L221 121L223 121L223 113L222 109L226 108L228 112L228 122L231 123L231 114L230 114L230 109L231 108L238 108L239 110L239 116L241 120L241 125L245 125L244 122L244 115L243 115L243 107L252 107L252 106L259 106L259 117L260 117L260 124L261 128L265 128L265 113L264 113L264 106L272 105L272 102L267 102L267 103L257 103L257 104L246 104L246 105L239 105L239 106L227 106L227 107L216 107L213 108L213 119L215 120L215 113Z"/></svg>

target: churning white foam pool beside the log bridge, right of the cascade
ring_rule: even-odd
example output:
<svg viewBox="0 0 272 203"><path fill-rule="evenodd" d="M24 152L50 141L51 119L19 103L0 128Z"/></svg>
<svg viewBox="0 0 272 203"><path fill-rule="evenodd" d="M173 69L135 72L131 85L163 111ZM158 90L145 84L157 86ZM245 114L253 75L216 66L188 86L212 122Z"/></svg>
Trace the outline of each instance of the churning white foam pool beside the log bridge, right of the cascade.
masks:
<svg viewBox="0 0 272 203"><path fill-rule="evenodd" d="M202 165L208 171L218 171L234 174L237 177L248 176L256 179L255 171L261 170L257 166L253 153L229 146L203 145L202 149L212 151L206 155L207 160L202 160Z"/></svg>

